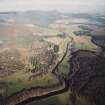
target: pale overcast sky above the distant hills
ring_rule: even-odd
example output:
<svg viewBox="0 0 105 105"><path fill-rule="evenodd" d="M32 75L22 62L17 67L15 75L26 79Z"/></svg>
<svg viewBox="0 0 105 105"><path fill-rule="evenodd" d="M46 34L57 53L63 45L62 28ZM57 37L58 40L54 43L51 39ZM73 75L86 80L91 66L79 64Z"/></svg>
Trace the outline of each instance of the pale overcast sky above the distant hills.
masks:
<svg viewBox="0 0 105 105"><path fill-rule="evenodd" d="M105 0L0 0L0 11L21 10L101 12L105 10Z"/></svg>

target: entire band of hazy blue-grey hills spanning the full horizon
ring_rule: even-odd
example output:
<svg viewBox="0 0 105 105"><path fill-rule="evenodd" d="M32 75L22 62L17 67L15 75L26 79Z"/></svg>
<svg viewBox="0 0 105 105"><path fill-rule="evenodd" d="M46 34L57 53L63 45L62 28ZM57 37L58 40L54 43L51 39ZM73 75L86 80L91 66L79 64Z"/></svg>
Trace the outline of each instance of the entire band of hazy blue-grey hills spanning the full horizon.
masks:
<svg viewBox="0 0 105 105"><path fill-rule="evenodd" d="M60 13L58 11L0 12L0 23L15 22L47 27L54 21L64 17L87 19L98 25L105 26L105 15L103 14Z"/></svg>

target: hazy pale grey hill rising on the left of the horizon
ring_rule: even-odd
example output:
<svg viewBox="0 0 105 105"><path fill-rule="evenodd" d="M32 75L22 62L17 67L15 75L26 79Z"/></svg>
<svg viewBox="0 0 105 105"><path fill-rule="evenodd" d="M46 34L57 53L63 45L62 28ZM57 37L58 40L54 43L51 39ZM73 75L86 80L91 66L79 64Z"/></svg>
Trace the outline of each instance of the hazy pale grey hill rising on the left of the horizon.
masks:
<svg viewBox="0 0 105 105"><path fill-rule="evenodd" d="M55 20L62 18L62 14L57 11L27 11L27 12L1 12L0 22L36 24L40 26L48 26Z"/></svg>

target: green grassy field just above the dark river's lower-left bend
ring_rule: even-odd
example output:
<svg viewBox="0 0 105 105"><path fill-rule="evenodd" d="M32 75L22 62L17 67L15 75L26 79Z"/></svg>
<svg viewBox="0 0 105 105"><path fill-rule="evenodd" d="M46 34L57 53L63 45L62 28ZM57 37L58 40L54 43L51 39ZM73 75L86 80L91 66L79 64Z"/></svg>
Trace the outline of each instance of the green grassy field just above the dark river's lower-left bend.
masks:
<svg viewBox="0 0 105 105"><path fill-rule="evenodd" d="M29 89L35 86L50 86L58 83L58 80L53 74L49 73L44 78L29 81L31 74L19 72L12 76L6 77L5 81L8 83L8 95L21 91L22 89Z"/></svg>

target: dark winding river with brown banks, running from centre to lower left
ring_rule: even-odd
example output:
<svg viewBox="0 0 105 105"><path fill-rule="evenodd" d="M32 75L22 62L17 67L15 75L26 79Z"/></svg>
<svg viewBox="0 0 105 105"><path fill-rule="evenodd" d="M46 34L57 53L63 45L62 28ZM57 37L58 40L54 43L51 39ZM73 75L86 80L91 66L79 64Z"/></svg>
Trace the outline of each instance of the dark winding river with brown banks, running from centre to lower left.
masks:
<svg viewBox="0 0 105 105"><path fill-rule="evenodd" d="M68 91L69 82L57 72L59 65L62 63L68 53L68 49L69 43L67 44L63 57L52 69L52 74L55 75L59 80L58 84L54 84L53 86L49 87L38 86L30 89L23 89L22 91L14 93L11 96L5 98L0 105L26 105L32 101L40 100Z"/></svg>

